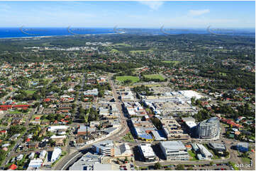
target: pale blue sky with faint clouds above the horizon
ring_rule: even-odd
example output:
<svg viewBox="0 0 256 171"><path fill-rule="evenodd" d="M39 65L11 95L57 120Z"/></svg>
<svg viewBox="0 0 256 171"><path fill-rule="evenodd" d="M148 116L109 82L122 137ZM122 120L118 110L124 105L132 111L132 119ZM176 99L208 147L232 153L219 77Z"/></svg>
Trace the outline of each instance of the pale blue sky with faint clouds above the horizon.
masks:
<svg viewBox="0 0 256 171"><path fill-rule="evenodd" d="M255 1L0 1L0 27L255 28Z"/></svg>

